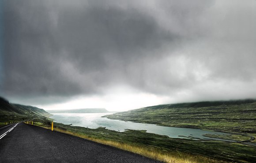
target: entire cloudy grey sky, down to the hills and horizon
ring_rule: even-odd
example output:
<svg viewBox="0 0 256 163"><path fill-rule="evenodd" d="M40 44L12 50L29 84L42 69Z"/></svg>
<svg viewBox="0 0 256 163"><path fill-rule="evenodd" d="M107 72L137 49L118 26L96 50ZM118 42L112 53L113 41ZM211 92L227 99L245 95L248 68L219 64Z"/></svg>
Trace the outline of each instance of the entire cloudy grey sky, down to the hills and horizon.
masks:
<svg viewBox="0 0 256 163"><path fill-rule="evenodd" d="M256 98L256 0L0 0L0 96L124 111Z"/></svg>

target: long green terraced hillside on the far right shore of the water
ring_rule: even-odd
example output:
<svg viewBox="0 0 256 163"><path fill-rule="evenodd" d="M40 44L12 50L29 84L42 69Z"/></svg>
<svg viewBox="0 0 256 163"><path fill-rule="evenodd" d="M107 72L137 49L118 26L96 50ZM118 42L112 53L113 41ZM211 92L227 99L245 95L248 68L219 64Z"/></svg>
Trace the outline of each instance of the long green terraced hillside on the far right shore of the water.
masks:
<svg viewBox="0 0 256 163"><path fill-rule="evenodd" d="M164 104L105 117L160 126L256 133L256 100Z"/></svg>

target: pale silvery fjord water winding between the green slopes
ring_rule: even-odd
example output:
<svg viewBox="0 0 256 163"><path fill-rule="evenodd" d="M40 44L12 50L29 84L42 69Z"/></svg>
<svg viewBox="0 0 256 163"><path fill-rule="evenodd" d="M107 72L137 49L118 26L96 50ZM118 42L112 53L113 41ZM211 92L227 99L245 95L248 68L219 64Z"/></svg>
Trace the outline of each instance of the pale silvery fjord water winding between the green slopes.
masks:
<svg viewBox="0 0 256 163"><path fill-rule="evenodd" d="M204 137L203 134L228 134L215 131L205 131L200 129L190 128L179 128L179 127L165 127L157 126L154 124L136 123L136 122L125 122L115 119L102 118L103 115L113 113L59 113L53 114L50 118L55 119L55 122L63 124L72 124L72 126L82 126L91 129L98 127L105 127L109 130L115 130L123 132L126 129L130 130L147 130L147 133L156 133L159 135L167 135L173 138L186 138L196 137L201 139L209 139ZM180 137L184 136L184 137ZM211 138L213 139L213 138ZM215 139L218 140L218 139Z"/></svg>

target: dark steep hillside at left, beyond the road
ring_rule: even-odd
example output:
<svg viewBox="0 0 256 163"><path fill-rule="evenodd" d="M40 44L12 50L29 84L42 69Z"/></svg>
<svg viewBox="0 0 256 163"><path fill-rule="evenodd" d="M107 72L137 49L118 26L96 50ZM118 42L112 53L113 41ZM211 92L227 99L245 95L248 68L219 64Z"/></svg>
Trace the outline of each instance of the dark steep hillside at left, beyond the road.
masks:
<svg viewBox="0 0 256 163"><path fill-rule="evenodd" d="M46 118L49 116L51 114L38 107L10 104L8 100L0 97L0 122Z"/></svg>

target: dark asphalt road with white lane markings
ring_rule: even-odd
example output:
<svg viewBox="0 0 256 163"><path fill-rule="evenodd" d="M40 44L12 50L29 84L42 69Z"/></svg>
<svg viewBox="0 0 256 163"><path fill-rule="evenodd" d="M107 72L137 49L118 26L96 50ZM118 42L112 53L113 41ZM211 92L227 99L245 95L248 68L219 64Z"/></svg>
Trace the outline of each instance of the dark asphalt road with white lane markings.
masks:
<svg viewBox="0 0 256 163"><path fill-rule="evenodd" d="M159 163L65 133L16 124L0 127L0 163Z"/></svg>

